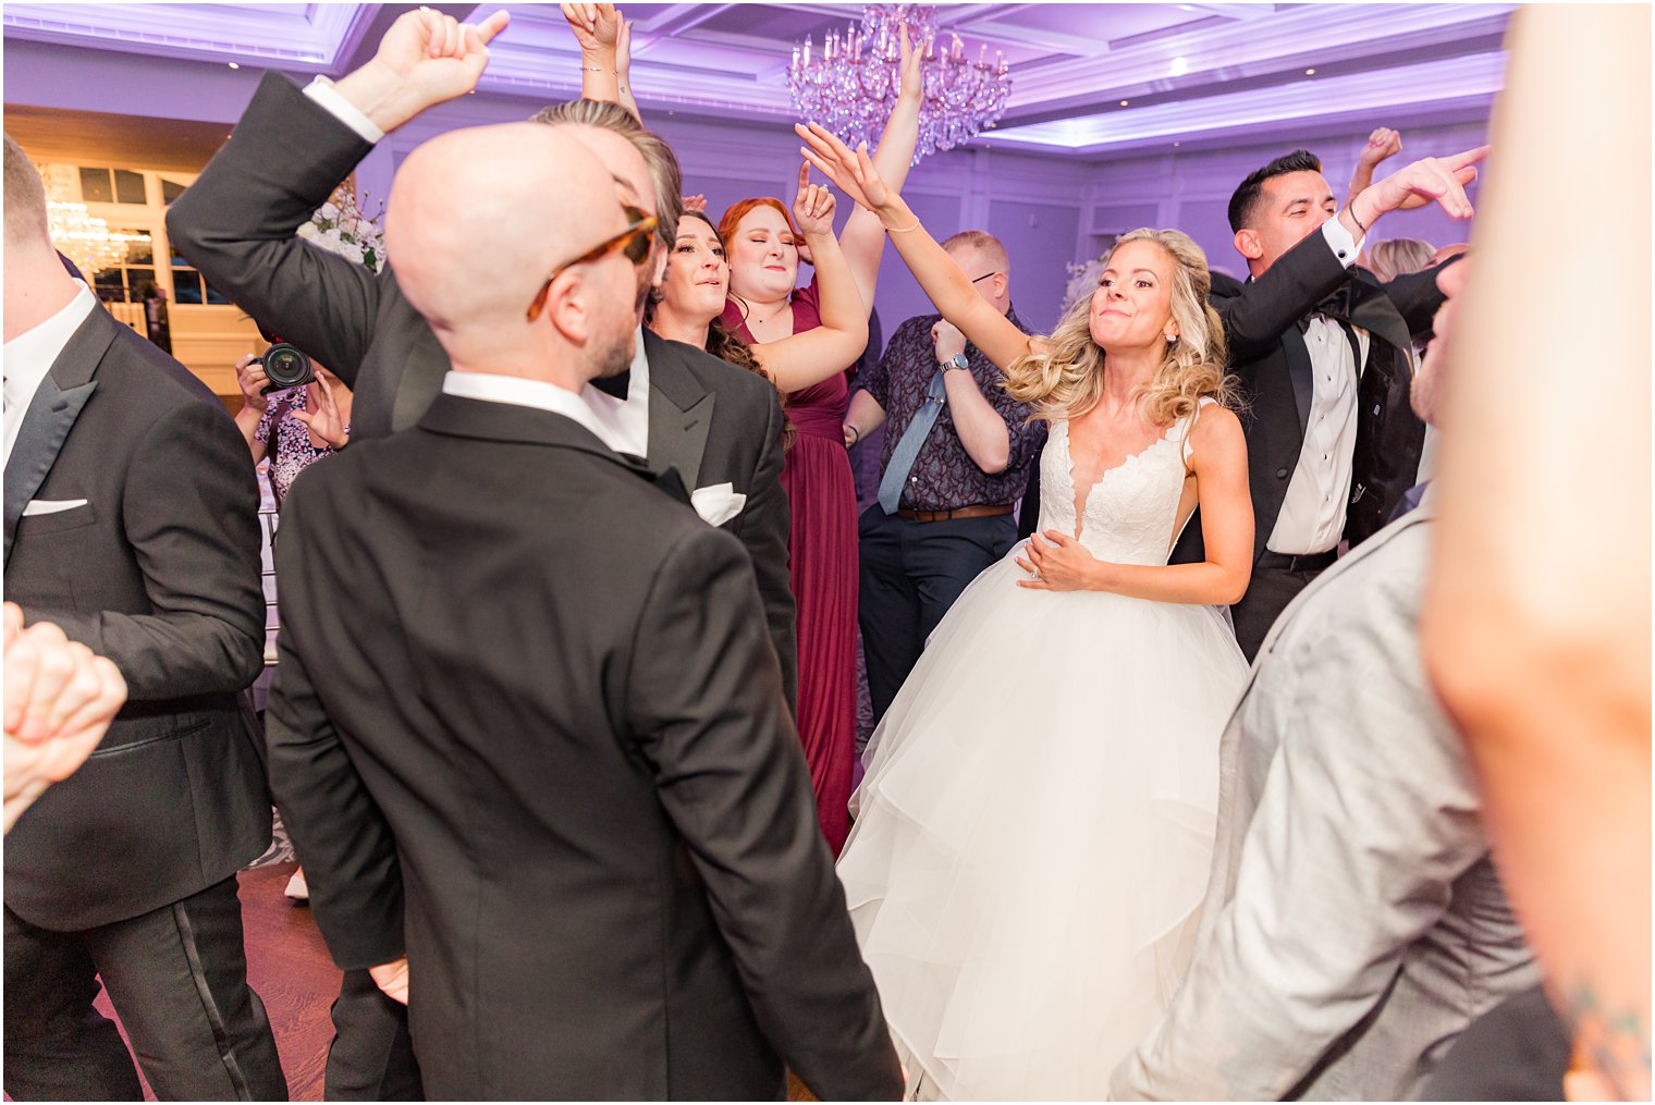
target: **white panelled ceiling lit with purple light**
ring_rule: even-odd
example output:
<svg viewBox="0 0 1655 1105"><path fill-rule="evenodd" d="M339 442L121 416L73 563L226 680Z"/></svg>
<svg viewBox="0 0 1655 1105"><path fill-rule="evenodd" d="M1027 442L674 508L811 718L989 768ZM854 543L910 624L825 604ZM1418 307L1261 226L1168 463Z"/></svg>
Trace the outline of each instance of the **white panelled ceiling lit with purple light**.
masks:
<svg viewBox="0 0 1655 1105"><path fill-rule="evenodd" d="M339 76L410 5L7 3L5 38ZM482 91L546 99L578 88L558 5L495 7ZM978 142L1091 157L1172 142L1264 139L1334 126L1486 119L1514 3L955 3L938 23L1011 65L1011 99ZM627 3L645 112L793 121L794 43L861 15L842 3ZM1124 101L1124 103L1122 103Z"/></svg>

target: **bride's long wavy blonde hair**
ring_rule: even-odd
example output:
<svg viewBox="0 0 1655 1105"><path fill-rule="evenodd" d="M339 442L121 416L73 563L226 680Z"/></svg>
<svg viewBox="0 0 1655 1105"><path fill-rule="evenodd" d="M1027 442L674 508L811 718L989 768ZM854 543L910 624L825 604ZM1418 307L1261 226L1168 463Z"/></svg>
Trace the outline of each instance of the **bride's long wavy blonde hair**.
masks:
<svg viewBox="0 0 1655 1105"><path fill-rule="evenodd" d="M1167 357L1139 395L1139 410L1155 425L1172 425L1195 414L1203 397L1235 405L1235 380L1225 374L1225 328L1206 303L1213 278L1202 246L1182 230L1149 227L1120 235L1127 242L1154 242L1173 261L1172 318L1178 341L1167 342ZM1094 293L1096 294L1096 293ZM1036 419L1077 419L1104 395L1107 356L1092 341L1092 296L1081 296L1046 337L1044 352L1029 352L1006 367L1006 392L1034 407Z"/></svg>

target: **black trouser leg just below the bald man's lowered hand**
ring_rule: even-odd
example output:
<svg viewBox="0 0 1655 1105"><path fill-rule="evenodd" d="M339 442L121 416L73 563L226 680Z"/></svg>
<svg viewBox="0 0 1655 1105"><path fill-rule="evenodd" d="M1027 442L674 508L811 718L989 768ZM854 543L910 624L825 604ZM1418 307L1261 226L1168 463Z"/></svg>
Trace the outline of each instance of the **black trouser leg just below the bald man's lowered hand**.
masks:
<svg viewBox="0 0 1655 1105"><path fill-rule="evenodd" d="M367 971L346 971L339 983L323 1095L329 1102L425 1100L409 1009L386 997Z"/></svg>

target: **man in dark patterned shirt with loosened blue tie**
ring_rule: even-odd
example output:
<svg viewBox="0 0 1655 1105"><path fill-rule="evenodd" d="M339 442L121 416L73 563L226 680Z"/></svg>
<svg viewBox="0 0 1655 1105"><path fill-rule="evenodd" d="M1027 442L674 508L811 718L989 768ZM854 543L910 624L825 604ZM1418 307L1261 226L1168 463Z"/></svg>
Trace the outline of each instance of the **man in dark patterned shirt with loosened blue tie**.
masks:
<svg viewBox="0 0 1655 1105"><path fill-rule="evenodd" d="M1011 309L1000 240L963 230L942 245L978 294L1024 329ZM1001 379L940 314L899 326L879 364L857 377L846 448L890 417L879 503L857 526L862 652L875 725L942 615L1018 539L1011 509L1046 423L1029 423L1029 409L1006 395Z"/></svg>

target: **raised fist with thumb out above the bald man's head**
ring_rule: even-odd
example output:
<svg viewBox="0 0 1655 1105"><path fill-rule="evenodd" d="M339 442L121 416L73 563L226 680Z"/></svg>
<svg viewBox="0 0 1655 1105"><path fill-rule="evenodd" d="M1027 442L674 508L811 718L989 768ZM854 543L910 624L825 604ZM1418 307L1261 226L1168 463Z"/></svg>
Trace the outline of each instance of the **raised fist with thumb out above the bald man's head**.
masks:
<svg viewBox="0 0 1655 1105"><path fill-rule="evenodd" d="M495 12L478 25L417 8L397 17L379 50L361 69L334 84L382 131L392 131L432 104L477 88L488 66L488 43L511 22Z"/></svg>

